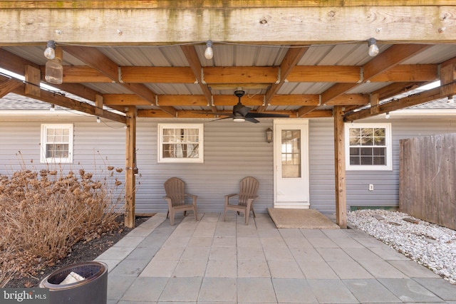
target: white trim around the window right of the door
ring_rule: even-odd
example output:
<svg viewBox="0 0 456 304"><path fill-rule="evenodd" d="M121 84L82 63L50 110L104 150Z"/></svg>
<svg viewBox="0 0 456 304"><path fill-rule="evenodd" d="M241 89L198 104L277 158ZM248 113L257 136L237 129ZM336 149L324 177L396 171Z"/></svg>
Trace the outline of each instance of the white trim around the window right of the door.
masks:
<svg viewBox="0 0 456 304"><path fill-rule="evenodd" d="M386 164L385 165L366 165L350 164L350 128L351 127L383 127L385 128L385 142L386 142ZM345 124L345 164L347 171L391 171L393 170L393 140L391 135L390 123L355 123L351 122Z"/></svg>

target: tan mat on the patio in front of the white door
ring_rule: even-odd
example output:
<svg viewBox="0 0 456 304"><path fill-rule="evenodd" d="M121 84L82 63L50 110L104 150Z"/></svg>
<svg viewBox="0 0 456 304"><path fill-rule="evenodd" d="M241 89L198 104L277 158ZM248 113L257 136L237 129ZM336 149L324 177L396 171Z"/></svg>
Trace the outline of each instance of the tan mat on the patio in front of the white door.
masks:
<svg viewBox="0 0 456 304"><path fill-rule="evenodd" d="M277 228L339 229L340 227L315 209L268 208Z"/></svg>

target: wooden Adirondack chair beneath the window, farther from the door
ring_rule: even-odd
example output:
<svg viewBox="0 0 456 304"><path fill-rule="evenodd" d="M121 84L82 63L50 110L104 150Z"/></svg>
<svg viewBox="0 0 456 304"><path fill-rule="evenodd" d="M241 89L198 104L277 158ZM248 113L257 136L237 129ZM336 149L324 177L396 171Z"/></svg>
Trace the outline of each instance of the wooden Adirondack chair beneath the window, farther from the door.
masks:
<svg viewBox="0 0 456 304"><path fill-rule="evenodd" d="M193 210L195 212L195 220L198 220L197 215L197 195L185 193L185 182L177 177L171 177L167 179L165 184L166 196L163 199L168 203L168 213L170 216L170 224L174 225L174 216L177 211L184 211L184 216L187 215L187 210ZM190 196L192 198L192 204L185 204L185 197Z"/></svg>

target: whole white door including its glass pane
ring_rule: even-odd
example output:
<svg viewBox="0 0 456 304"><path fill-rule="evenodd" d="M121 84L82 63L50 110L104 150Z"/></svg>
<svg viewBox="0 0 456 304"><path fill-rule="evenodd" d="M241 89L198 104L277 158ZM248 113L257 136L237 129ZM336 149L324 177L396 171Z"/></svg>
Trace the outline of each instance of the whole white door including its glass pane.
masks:
<svg viewBox="0 0 456 304"><path fill-rule="evenodd" d="M309 208L309 120L274 120L274 207Z"/></svg>

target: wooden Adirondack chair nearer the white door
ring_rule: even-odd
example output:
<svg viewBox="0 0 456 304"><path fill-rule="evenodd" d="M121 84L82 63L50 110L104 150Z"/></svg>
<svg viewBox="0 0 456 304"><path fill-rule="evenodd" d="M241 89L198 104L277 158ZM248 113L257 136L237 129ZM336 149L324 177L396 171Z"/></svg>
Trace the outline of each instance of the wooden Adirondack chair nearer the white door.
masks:
<svg viewBox="0 0 456 304"><path fill-rule="evenodd" d="M241 182L239 182L239 193L234 194L227 194L225 195L225 208L223 212L223 220L227 216L227 211L237 211L244 213L245 224L249 224L249 214L250 211L253 212L255 217L254 211L254 200L257 199L257 191L259 187L259 182L254 177L244 177ZM229 199L233 198L234 196L239 196L237 200L237 204L230 204Z"/></svg>

